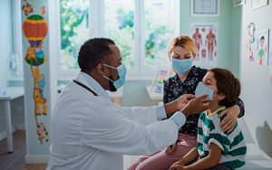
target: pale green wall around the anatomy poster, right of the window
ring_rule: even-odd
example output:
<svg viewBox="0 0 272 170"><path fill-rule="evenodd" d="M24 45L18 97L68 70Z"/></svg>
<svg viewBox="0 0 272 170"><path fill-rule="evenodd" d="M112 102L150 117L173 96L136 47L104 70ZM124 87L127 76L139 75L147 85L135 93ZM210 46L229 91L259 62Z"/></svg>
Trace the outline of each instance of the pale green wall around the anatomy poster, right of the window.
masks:
<svg viewBox="0 0 272 170"><path fill-rule="evenodd" d="M218 56L219 67L230 69L238 75L238 64L233 65L232 62L238 63L238 51L232 51L232 47L236 47L239 39L238 33L233 35L232 24L238 24L239 12L233 9L233 1L220 0L219 1L219 16L199 17L191 16L191 1L180 0L180 33L189 34L189 24L191 23L217 23L219 27L218 34ZM235 12L235 14L233 14ZM238 17L238 18L237 18ZM237 26L237 25L236 25ZM235 45L232 43L235 42ZM237 58L233 58L235 55Z"/></svg>

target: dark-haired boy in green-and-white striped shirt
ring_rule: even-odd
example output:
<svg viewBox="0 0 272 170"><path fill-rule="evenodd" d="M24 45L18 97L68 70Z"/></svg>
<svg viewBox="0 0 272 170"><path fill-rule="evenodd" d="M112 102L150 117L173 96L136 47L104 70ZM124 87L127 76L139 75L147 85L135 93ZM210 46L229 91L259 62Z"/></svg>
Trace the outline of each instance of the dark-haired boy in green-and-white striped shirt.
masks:
<svg viewBox="0 0 272 170"><path fill-rule="evenodd" d="M171 165L170 170L227 170L245 165L247 146L238 123L231 132L223 132L219 127L223 118L218 117L221 111L237 101L240 94L238 79L230 71L216 68L207 72L203 83L213 90L213 95L209 110L199 115L198 146Z"/></svg>

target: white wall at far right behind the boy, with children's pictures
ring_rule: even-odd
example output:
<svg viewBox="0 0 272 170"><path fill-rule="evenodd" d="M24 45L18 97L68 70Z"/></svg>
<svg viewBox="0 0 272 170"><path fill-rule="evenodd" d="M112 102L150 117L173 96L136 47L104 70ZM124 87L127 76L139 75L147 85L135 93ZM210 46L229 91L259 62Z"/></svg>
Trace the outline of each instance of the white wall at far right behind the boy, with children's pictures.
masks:
<svg viewBox="0 0 272 170"><path fill-rule="evenodd" d="M269 81L267 65L259 66L257 62L248 60L248 30L249 22L254 22L256 31L272 30L272 5L251 10L251 0L243 5L241 27L240 80L242 84L242 99L246 105L246 121L257 145L272 156L272 82ZM270 36L271 37L271 36ZM271 39L271 38L270 38ZM272 41L270 41L271 43ZM272 48L270 48L272 51Z"/></svg>

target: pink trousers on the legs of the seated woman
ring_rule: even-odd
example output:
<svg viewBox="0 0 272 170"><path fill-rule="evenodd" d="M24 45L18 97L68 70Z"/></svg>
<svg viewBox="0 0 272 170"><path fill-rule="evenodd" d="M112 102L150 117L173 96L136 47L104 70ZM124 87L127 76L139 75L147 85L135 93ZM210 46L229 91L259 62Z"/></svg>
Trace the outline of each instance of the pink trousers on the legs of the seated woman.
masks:
<svg viewBox="0 0 272 170"><path fill-rule="evenodd" d="M153 156L142 156L134 162L129 170L165 170L169 169L170 165L178 161L182 156L187 154L189 150L197 145L197 138L179 134L178 146L173 155L166 155L165 149L154 154Z"/></svg>

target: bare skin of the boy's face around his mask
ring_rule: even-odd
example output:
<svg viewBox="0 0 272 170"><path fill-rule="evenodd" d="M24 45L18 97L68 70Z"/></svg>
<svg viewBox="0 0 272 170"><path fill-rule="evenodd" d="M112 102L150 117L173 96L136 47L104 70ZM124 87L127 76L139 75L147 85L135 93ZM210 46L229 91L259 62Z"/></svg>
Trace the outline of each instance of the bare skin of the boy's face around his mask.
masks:
<svg viewBox="0 0 272 170"><path fill-rule="evenodd" d="M225 98L225 95L218 92L217 80L215 80L214 73L212 71L208 71L202 81L203 84L213 90L212 100L222 100Z"/></svg>

